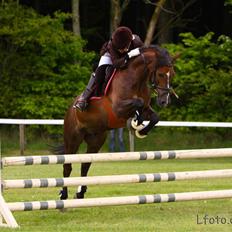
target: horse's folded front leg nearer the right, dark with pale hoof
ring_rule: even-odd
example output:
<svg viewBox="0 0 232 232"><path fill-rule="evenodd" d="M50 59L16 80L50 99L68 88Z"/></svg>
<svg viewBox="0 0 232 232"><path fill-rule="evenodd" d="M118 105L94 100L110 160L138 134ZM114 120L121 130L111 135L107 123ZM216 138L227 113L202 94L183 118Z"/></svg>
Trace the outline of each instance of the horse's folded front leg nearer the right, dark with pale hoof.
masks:
<svg viewBox="0 0 232 232"><path fill-rule="evenodd" d="M147 125L142 126L142 129L136 131L137 137L144 137L148 132L159 122L159 116L156 112L149 106L145 108L141 114L141 118L144 121L148 121Z"/></svg>

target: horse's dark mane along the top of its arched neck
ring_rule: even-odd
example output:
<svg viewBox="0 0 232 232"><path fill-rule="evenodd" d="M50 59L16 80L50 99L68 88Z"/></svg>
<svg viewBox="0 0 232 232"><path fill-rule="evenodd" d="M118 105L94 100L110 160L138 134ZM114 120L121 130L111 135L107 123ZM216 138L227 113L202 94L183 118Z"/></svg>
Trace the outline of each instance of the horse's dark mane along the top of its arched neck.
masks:
<svg viewBox="0 0 232 232"><path fill-rule="evenodd" d="M149 49L153 49L156 51L156 54L158 55L158 67L162 66L172 66L172 57L170 56L167 49L162 48L158 45L150 45L150 46L144 46L140 48L141 52L145 52Z"/></svg>

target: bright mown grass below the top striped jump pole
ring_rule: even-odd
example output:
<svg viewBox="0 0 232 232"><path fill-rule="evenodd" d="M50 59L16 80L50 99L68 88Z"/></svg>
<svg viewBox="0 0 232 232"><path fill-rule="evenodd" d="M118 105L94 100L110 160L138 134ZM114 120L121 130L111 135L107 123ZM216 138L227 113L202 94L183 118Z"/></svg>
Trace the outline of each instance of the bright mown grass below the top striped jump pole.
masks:
<svg viewBox="0 0 232 232"><path fill-rule="evenodd" d="M90 176L110 174L133 174L170 172L186 170L226 169L231 167L232 159L194 159L160 160L123 163L96 163L90 170ZM22 168L24 171L22 172ZM62 167L27 166L7 167L3 170L5 179L60 177ZM73 165L72 176L79 174L79 165ZM228 178L211 180L192 180L162 183L121 184L107 186L89 186L86 198L130 196L184 191L207 191L229 189ZM4 197L11 201L35 201L58 199L60 188L6 190ZM70 197L75 192L70 187ZM199 225L197 217L231 217L232 200L207 200L196 202L163 203L154 205L95 207L69 209L65 213L57 210L15 212L20 231L228 231L231 225ZM1 229L10 231L10 229Z"/></svg>

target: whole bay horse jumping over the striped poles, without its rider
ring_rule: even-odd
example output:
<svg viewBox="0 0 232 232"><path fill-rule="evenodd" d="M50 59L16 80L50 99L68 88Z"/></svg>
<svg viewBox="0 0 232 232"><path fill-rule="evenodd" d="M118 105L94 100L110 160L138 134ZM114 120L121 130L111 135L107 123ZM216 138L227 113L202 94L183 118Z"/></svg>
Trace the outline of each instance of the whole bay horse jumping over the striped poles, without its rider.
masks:
<svg viewBox="0 0 232 232"><path fill-rule="evenodd" d="M87 144L87 153L97 153L103 146L107 131L125 127L127 120L134 117L132 127L137 136L146 135L156 123L158 115L150 106L152 90L157 93L157 104L170 103L174 76L172 57L166 49L158 46L142 47L139 54L115 71L104 96L91 99L84 112L72 107L64 118L64 146L60 154L74 154L82 142ZM146 126L143 121L149 122ZM141 127L141 125L143 125ZM91 163L81 164L81 176L87 176ZM63 176L69 177L72 164L63 165ZM84 198L87 186L79 186L76 198ZM68 189L63 187L60 199L68 198Z"/></svg>

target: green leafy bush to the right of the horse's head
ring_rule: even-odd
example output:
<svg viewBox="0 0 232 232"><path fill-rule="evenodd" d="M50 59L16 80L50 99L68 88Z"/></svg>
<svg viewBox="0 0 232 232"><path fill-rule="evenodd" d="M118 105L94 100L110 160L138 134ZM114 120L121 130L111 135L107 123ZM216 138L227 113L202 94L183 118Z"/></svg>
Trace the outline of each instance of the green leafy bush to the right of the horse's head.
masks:
<svg viewBox="0 0 232 232"><path fill-rule="evenodd" d="M181 53L173 79L180 100L161 110L161 119L232 121L232 40L222 35L213 42L212 32L180 36L182 44L167 45L171 54Z"/></svg>

